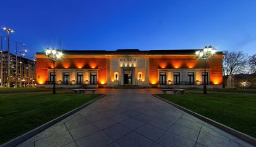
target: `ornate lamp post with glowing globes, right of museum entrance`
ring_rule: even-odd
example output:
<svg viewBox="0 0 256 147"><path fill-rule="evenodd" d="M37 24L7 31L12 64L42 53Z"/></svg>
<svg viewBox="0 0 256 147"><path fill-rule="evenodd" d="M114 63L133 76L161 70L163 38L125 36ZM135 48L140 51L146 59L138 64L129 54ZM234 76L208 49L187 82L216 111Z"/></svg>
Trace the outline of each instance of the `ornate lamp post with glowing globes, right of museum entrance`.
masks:
<svg viewBox="0 0 256 147"><path fill-rule="evenodd" d="M202 50L197 50L195 52L195 55L197 56L197 58L201 58L203 59L204 63L205 63L205 72L203 74L203 94L207 94L207 85L206 85L206 62L207 59L212 57L216 52L216 49L212 46L205 46L205 48L203 48Z"/></svg>

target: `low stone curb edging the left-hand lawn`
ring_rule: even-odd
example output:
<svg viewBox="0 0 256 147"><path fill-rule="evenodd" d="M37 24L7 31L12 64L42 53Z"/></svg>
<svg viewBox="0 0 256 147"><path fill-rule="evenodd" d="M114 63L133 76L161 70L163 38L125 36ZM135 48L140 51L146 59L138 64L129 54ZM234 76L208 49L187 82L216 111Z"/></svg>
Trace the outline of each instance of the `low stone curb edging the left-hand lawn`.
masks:
<svg viewBox="0 0 256 147"><path fill-rule="evenodd" d="M51 125L54 125L59 121L62 121L66 117L69 117L74 113L77 113L81 109L87 107L88 105L94 103L97 100L100 100L100 98L103 98L105 96L106 96L106 94L103 94L100 97L95 98L94 100L88 101L87 103L83 104L82 106L79 106L78 108L72 109L71 111L67 112L66 114L62 114L62 116L59 116L59 117L53 119L52 121L46 122L45 124L40 125L39 127L36 127L35 129L30 130L29 132L24 133L23 135L20 135L19 137L16 137L16 138L0 145L0 147L11 147L11 146L19 145L19 143L22 143L23 141L27 140L28 138L33 137L34 135L42 132L43 130L47 129L48 127L51 127Z"/></svg>

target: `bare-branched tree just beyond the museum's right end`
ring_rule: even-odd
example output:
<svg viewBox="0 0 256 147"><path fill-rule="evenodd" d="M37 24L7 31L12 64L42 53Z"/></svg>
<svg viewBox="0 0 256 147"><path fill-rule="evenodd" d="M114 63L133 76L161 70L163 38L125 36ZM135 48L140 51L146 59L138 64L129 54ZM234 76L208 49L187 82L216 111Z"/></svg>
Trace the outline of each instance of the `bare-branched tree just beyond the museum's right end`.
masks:
<svg viewBox="0 0 256 147"><path fill-rule="evenodd" d="M246 55L242 51L224 52L223 56L223 87L229 75L244 73L246 71Z"/></svg>

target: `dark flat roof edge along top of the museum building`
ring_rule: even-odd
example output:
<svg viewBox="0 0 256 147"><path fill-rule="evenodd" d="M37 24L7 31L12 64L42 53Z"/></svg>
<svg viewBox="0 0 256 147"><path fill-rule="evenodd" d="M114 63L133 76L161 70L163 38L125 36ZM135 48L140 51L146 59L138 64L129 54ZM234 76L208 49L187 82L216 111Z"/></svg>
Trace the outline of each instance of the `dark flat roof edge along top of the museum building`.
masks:
<svg viewBox="0 0 256 147"><path fill-rule="evenodd" d="M197 49L170 49L170 50L139 50L139 49L117 49L117 50L62 50L64 55L193 55ZM223 52L216 52L222 55ZM45 55L45 52L36 52L36 55Z"/></svg>

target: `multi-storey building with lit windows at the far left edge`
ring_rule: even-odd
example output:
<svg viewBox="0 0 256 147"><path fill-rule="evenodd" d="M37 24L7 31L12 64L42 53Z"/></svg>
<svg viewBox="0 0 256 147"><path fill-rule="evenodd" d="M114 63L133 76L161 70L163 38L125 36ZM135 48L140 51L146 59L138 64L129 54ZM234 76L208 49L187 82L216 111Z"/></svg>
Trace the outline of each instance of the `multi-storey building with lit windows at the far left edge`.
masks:
<svg viewBox="0 0 256 147"><path fill-rule="evenodd" d="M2 74L0 70L0 81L3 82L4 87L7 84L7 52L2 52ZM28 58L17 56L17 66L16 66L16 55L11 54L11 87L28 87L34 86L36 79L36 62L35 60L30 60ZM20 72L21 71L21 72ZM17 73L16 73L17 72ZM20 75L21 74L21 75ZM1 77L2 75L2 77ZM17 81L17 82L16 82Z"/></svg>

